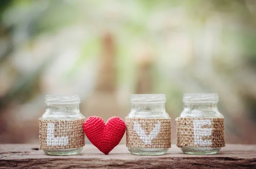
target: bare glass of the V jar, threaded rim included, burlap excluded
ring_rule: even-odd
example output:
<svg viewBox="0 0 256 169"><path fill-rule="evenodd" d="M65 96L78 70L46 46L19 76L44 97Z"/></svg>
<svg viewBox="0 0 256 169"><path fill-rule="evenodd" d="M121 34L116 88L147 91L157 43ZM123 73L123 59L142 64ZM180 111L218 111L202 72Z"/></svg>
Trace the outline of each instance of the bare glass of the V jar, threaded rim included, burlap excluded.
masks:
<svg viewBox="0 0 256 169"><path fill-rule="evenodd" d="M131 95L131 112L127 118L170 118L165 110L164 94L133 94ZM138 148L128 147L134 155L163 155L169 148Z"/></svg>

